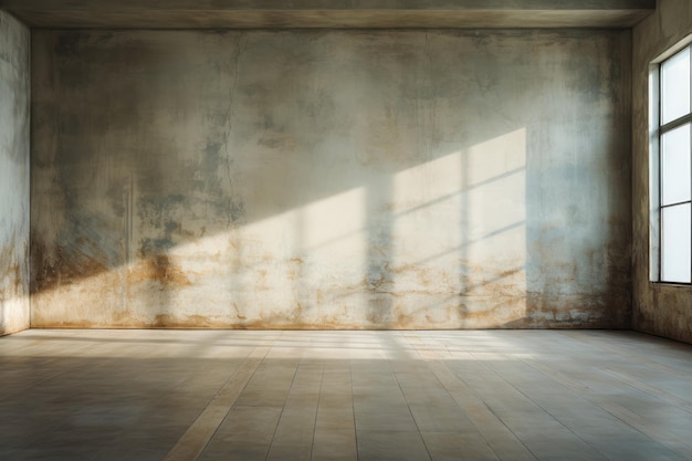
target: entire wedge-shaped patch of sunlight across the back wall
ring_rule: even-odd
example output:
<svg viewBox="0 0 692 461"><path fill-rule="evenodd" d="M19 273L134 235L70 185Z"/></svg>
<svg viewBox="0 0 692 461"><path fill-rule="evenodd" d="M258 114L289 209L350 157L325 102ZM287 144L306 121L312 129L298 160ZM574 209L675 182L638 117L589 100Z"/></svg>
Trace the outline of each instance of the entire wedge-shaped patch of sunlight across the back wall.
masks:
<svg viewBox="0 0 692 461"><path fill-rule="evenodd" d="M508 325L526 313L525 170L518 129L35 296L86 313L64 326Z"/></svg>

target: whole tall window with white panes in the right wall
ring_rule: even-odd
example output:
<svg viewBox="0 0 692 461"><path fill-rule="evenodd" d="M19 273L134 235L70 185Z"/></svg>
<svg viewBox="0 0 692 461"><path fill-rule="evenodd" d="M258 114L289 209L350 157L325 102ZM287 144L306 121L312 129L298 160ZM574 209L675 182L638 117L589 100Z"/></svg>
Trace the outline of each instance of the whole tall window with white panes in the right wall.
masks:
<svg viewBox="0 0 692 461"><path fill-rule="evenodd" d="M660 61L652 85L658 97L653 114L652 203L658 232L652 279L667 283L692 283L692 86L691 46ZM658 186L658 187L657 187ZM658 253L658 254L656 254ZM656 258L654 258L656 259ZM658 279L658 280L657 280Z"/></svg>

